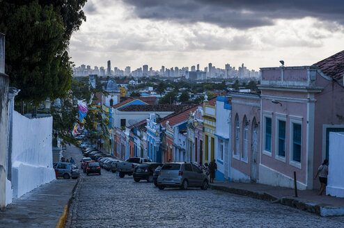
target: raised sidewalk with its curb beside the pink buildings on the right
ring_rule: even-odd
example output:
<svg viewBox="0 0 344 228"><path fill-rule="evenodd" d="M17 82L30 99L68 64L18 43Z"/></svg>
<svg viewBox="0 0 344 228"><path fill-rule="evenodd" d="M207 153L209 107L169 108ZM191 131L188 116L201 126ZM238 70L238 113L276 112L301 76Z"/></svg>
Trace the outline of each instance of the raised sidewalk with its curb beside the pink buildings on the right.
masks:
<svg viewBox="0 0 344 228"><path fill-rule="evenodd" d="M298 190L295 197L294 189L264 184L214 181L210 188L293 206L321 216L344 215L344 198L318 195L317 190Z"/></svg>

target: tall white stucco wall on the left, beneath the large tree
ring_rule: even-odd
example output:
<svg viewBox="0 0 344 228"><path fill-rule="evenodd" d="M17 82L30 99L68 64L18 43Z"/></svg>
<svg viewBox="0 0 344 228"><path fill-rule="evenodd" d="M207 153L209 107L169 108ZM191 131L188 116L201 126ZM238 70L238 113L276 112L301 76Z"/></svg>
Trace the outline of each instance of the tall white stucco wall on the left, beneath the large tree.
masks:
<svg viewBox="0 0 344 228"><path fill-rule="evenodd" d="M52 117L26 118L13 112L12 185L20 197L55 179L52 168Z"/></svg>

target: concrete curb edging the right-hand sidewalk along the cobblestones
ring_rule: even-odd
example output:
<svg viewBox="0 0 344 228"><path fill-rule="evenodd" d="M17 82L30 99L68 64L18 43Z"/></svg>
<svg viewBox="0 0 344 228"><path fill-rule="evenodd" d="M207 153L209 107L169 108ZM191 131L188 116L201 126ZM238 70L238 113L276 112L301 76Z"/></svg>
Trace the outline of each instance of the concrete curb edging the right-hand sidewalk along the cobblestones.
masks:
<svg viewBox="0 0 344 228"><path fill-rule="evenodd" d="M224 192L233 193L236 195L249 196L255 199L261 199L272 203L279 203L286 206L292 206L301 211L308 211L320 215L322 217L344 215L344 207L338 208L326 204L318 204L317 202L308 201L306 199L296 197L278 198L274 195L270 195L269 193L265 193L263 191L247 190L242 188L231 188L227 186L218 186L213 184L210 184L210 188L215 190L222 190Z"/></svg>

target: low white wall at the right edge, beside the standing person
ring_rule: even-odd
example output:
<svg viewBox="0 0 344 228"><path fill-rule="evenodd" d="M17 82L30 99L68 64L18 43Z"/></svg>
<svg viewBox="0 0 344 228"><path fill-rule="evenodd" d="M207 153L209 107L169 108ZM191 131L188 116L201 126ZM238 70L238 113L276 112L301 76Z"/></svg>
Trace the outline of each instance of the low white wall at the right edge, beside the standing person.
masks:
<svg viewBox="0 0 344 228"><path fill-rule="evenodd" d="M344 197L344 134L329 133L329 174L326 194Z"/></svg>

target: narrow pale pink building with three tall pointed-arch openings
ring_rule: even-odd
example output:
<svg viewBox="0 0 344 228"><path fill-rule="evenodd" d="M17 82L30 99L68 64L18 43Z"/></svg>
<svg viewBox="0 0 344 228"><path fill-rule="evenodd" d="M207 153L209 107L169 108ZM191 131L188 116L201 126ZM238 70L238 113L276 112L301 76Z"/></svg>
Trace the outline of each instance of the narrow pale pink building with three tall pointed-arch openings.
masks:
<svg viewBox="0 0 344 228"><path fill-rule="evenodd" d="M260 96L233 92L230 181L256 182L260 161Z"/></svg>

